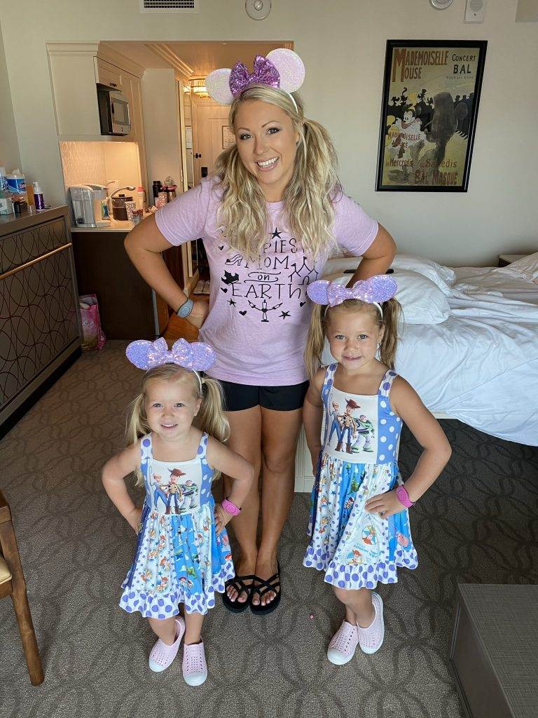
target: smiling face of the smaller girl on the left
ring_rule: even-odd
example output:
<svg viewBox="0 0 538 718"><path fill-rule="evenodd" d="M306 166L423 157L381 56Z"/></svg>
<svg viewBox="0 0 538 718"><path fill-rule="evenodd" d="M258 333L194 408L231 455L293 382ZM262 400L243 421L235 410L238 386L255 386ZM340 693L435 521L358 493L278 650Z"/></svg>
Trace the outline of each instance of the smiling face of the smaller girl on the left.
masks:
<svg viewBox="0 0 538 718"><path fill-rule="evenodd" d="M152 379L146 386L149 428L165 440L187 434L200 403L194 396L190 378L184 381Z"/></svg>

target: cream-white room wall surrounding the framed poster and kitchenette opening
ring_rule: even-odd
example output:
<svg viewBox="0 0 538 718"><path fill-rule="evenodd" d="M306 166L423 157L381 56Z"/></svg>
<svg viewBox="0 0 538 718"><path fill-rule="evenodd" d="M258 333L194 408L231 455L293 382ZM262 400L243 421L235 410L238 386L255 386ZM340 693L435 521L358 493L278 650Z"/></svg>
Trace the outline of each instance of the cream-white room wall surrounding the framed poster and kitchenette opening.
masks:
<svg viewBox="0 0 538 718"><path fill-rule="evenodd" d="M242 0L204 0L200 14L139 14L138 0L0 0L22 165L47 199L62 201L45 42L288 38L306 64L308 116L334 138L346 191L395 236L400 251L448 264L488 264L538 248L538 24L516 23L517 0L489 0L483 24L464 24L465 0L275 1L250 20ZM387 39L488 39L469 190L374 192ZM24 47L24 52L21 52ZM74 80L75 81L75 80Z"/></svg>

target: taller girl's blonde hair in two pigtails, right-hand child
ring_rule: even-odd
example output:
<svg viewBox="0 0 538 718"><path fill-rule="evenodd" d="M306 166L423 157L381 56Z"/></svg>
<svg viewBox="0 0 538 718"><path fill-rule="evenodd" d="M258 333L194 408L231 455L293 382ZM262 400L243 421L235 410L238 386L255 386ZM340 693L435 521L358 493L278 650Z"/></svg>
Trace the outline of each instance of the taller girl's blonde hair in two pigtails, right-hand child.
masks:
<svg viewBox="0 0 538 718"><path fill-rule="evenodd" d="M334 312L369 312L377 327L383 327L383 337L379 346L379 358L382 363L390 369L395 368L396 350L398 345L398 321L402 307L397 299L389 299L382 304L383 317L375 304L362 302L361 299L346 299L336 307L329 307L325 304L314 304L304 361L308 377L312 378L321 366L321 354L324 350L325 337L331 322L331 315Z"/></svg>

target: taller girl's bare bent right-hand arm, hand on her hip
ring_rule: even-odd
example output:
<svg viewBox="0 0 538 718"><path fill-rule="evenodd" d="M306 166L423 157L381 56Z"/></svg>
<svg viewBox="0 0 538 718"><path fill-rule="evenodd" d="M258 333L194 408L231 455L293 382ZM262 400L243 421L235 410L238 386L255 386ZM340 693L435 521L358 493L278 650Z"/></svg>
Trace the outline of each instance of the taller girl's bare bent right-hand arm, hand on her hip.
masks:
<svg viewBox="0 0 538 718"><path fill-rule="evenodd" d="M424 449L420 454L415 470L405 482L409 498L415 502L430 488L440 472L443 471L450 459L452 449L450 449L448 439L445 437L445 432L441 429L438 421L426 409L415 389L401 376L397 377L392 385L390 404L392 410L398 416L401 416L417 442ZM384 510L379 501L382 500L383 496L392 501L390 497L392 494L394 492L390 491L387 494L371 498L366 503L367 510L374 512ZM391 503L391 506L386 510L387 516L390 516L391 513L397 513L397 510L402 510L402 504L395 496L392 498L396 503L392 502L394 506ZM392 510L392 508L396 510Z"/></svg>

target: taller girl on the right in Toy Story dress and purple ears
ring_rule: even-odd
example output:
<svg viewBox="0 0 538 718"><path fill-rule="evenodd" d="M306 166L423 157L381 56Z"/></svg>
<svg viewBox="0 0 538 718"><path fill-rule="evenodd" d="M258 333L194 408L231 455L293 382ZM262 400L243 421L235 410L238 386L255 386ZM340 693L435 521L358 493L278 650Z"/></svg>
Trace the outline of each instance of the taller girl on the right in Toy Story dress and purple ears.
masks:
<svg viewBox="0 0 538 718"><path fill-rule="evenodd" d="M382 645L383 602L373 589L395 583L398 568L417 567L407 509L443 470L450 446L394 371L395 281L374 276L348 289L320 280L307 291L315 306L303 416L316 482L303 564L323 571L344 604L345 620L327 651L331 663L342 664L357 644L364 653ZM336 362L320 369L325 338ZM405 484L397 466L402 421L424 449Z"/></svg>

